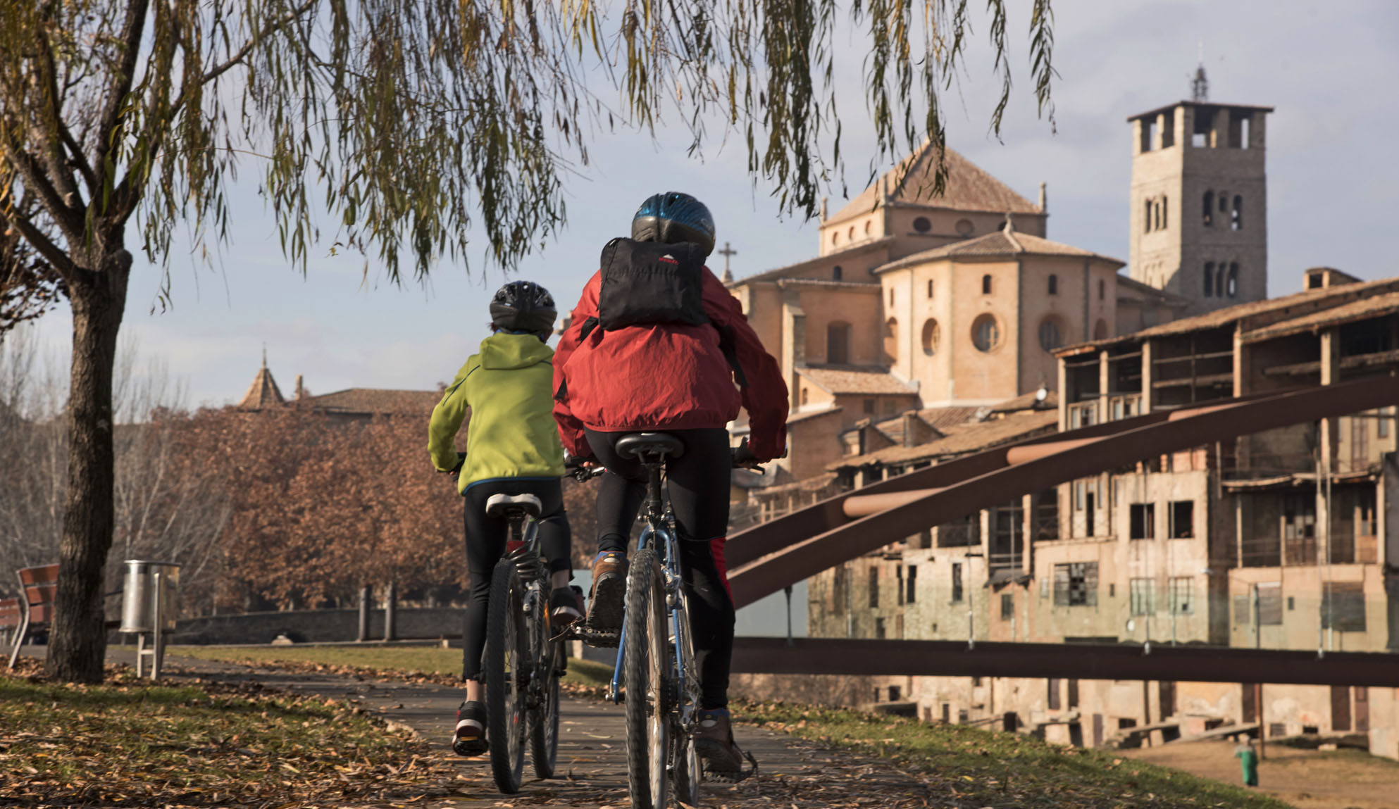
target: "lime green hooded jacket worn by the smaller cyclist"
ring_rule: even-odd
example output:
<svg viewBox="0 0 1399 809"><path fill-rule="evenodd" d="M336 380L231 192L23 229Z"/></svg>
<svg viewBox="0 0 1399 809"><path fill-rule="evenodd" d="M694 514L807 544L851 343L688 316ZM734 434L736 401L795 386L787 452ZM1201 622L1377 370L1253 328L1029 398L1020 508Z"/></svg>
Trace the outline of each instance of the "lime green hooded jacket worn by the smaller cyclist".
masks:
<svg viewBox="0 0 1399 809"><path fill-rule="evenodd" d="M432 408L432 465L456 465L453 439L466 411L466 464L457 492L494 478L560 478L564 447L554 422L554 349L533 334L498 331L481 341Z"/></svg>

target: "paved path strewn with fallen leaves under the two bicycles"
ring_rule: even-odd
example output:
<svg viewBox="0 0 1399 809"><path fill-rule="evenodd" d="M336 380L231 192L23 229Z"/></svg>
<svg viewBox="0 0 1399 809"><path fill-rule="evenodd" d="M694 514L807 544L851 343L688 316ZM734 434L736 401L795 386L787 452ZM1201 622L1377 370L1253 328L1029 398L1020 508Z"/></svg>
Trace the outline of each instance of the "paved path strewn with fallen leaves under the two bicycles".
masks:
<svg viewBox="0 0 1399 809"><path fill-rule="evenodd" d="M132 658L132 659L125 659ZM130 651L112 650L111 659L133 662ZM369 682L340 675L306 675L276 668L197 661L168 655L162 675L171 679L203 676L259 682L266 687L347 700L389 721L407 725L431 743L438 761L460 767L463 794L432 798L416 806L583 806L628 805L623 707L606 701L565 699L558 742L558 775L527 781L518 795L501 795L483 759L460 759L448 748L459 689L431 683ZM916 774L894 763L831 750L813 742L751 727L739 727L740 745L761 766L741 784L705 782L701 803L713 809L740 808L960 808ZM525 766L526 777L533 773Z"/></svg>

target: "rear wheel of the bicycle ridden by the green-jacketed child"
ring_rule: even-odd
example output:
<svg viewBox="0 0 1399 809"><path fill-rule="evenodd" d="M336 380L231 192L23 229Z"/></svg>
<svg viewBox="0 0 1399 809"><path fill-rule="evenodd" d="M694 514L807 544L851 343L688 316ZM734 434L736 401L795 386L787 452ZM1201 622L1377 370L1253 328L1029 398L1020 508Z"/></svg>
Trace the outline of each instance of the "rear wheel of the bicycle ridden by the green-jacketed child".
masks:
<svg viewBox="0 0 1399 809"><path fill-rule="evenodd" d="M491 576L485 619L485 732L491 742L491 774L506 795L519 792L525 771L525 694L520 675L529 661L520 632L520 577L515 563L501 559Z"/></svg>

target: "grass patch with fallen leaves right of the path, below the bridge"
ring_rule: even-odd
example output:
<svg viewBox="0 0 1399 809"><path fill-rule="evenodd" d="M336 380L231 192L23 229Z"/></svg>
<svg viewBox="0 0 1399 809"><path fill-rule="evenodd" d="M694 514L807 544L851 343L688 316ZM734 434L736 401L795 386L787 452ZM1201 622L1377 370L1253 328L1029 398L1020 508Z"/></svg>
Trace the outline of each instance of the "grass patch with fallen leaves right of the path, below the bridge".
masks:
<svg viewBox="0 0 1399 809"><path fill-rule="evenodd" d="M968 806L1288 809L1240 787L1023 734L782 703L733 708L760 727L894 759L939 781L958 801L970 801Z"/></svg>

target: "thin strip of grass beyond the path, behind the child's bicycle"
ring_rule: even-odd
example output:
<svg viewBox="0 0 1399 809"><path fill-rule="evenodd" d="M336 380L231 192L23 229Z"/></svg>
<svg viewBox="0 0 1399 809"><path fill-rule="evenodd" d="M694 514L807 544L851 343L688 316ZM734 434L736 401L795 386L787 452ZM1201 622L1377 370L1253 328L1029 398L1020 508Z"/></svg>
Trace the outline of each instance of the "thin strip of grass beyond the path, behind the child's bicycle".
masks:
<svg viewBox="0 0 1399 809"><path fill-rule="evenodd" d="M460 685L462 650L435 646L203 646L171 647L169 655L224 662L276 665L298 671L322 671L367 678ZM611 682L607 664L569 659L562 683L575 689L597 689Z"/></svg>

